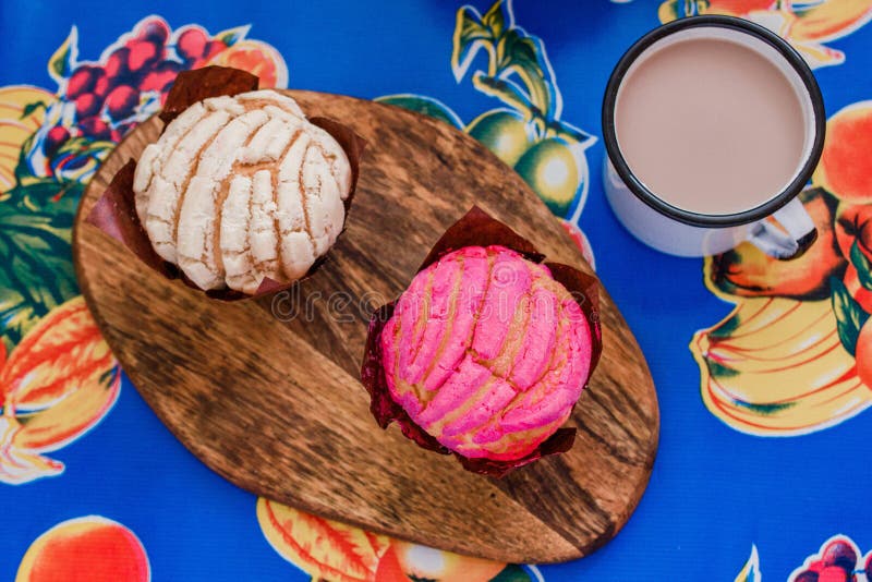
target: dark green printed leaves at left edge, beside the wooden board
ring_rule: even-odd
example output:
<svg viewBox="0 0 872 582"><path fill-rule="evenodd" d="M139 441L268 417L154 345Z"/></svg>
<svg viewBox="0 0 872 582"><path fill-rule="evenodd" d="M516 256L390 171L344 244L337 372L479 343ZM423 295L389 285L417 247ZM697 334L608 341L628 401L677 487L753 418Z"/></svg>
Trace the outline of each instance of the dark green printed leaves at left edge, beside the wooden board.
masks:
<svg viewBox="0 0 872 582"><path fill-rule="evenodd" d="M55 183L57 195L61 185ZM8 348L78 293L70 237L81 184L60 198L49 184L17 186L0 204L0 337Z"/></svg>

